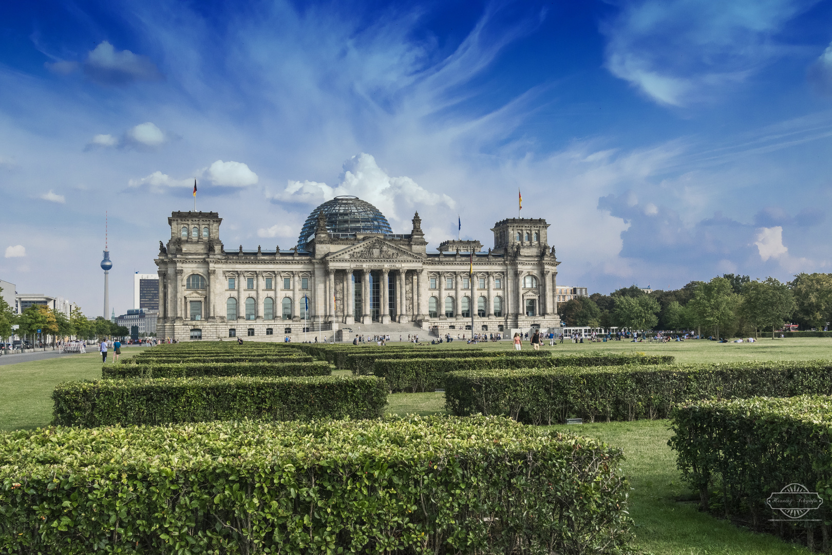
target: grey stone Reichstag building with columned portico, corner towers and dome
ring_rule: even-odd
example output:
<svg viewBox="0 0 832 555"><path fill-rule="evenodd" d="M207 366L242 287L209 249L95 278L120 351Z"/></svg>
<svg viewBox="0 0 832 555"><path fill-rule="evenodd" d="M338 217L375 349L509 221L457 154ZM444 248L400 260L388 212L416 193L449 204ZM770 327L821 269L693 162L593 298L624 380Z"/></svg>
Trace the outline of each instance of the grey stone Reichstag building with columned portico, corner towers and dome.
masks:
<svg viewBox="0 0 832 555"><path fill-rule="evenodd" d="M159 241L159 338L319 341L354 334L471 330L510 334L560 325L557 265L544 220L508 218L494 247L447 240L428 252L418 212L409 234L354 196L318 206L284 250L226 250L217 212L173 212ZM473 279L470 273L473 251ZM467 331L470 337L470 331Z"/></svg>

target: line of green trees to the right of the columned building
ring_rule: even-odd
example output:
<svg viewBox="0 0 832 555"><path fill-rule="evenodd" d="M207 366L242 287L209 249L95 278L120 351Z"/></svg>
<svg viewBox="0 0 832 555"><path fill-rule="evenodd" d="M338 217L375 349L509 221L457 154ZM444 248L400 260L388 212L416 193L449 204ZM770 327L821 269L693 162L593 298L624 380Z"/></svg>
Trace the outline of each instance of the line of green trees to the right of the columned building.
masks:
<svg viewBox="0 0 832 555"><path fill-rule="evenodd" d="M701 330L717 337L760 331L774 336L785 323L822 330L832 321L832 274L798 274L786 283L724 274L649 294L631 285L610 295L593 293L559 303L557 313L566 325Z"/></svg>

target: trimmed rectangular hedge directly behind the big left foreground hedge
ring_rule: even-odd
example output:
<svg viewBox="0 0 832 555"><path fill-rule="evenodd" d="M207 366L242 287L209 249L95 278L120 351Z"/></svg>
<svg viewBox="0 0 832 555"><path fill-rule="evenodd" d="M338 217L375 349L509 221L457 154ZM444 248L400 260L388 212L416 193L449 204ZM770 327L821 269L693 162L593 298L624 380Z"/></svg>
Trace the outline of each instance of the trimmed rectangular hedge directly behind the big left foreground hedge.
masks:
<svg viewBox="0 0 832 555"><path fill-rule="evenodd" d="M102 379L58 384L52 424L109 426L206 420L379 418L383 379L218 378Z"/></svg>

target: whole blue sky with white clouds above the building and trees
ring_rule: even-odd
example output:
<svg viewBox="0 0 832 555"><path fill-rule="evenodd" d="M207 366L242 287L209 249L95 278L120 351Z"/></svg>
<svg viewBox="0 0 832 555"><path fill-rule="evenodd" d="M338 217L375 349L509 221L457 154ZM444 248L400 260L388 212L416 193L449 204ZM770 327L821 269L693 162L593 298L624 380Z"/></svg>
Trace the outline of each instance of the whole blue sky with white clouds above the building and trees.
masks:
<svg viewBox="0 0 832 555"><path fill-rule="evenodd" d="M0 279L97 315L166 217L295 245L337 194L435 248L546 218L559 283L829 271L832 2L4 2Z"/></svg>

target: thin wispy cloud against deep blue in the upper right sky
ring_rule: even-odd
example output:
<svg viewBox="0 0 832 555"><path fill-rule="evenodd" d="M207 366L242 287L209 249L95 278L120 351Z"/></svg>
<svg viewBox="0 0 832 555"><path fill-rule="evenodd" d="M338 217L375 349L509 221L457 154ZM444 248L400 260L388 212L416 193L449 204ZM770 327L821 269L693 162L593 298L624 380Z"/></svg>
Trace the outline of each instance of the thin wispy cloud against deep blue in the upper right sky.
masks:
<svg viewBox="0 0 832 555"><path fill-rule="evenodd" d="M774 59L771 35L813 3L625 0L602 25L605 65L661 104L701 102Z"/></svg>

